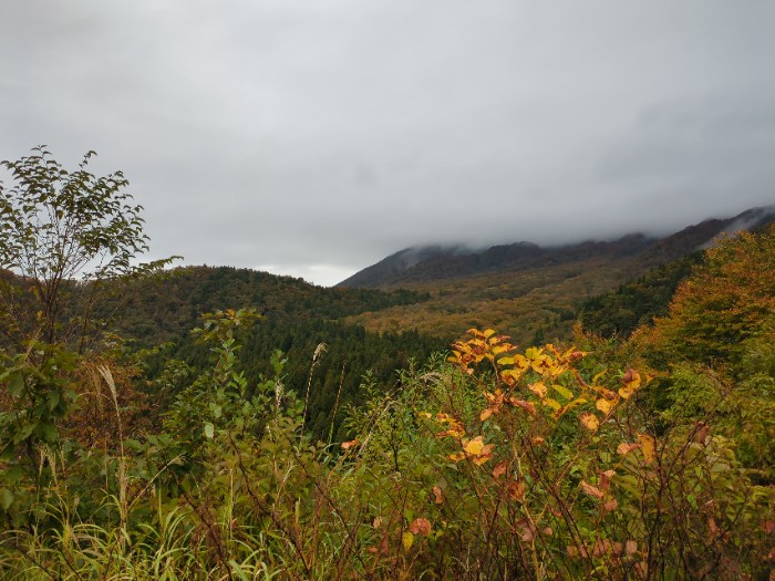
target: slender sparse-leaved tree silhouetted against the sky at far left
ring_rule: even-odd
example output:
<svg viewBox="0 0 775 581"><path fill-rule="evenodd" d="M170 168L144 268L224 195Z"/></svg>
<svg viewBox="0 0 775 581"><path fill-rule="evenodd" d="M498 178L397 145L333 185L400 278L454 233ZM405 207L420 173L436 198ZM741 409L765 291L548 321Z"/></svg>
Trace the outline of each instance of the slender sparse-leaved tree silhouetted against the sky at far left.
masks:
<svg viewBox="0 0 775 581"><path fill-rule="evenodd" d="M89 152L69 172L44 146L4 160L0 183L0 320L10 344L94 336L90 326L106 281L154 271L172 259L137 263L148 250L142 206L121 172L95 176Z"/></svg>

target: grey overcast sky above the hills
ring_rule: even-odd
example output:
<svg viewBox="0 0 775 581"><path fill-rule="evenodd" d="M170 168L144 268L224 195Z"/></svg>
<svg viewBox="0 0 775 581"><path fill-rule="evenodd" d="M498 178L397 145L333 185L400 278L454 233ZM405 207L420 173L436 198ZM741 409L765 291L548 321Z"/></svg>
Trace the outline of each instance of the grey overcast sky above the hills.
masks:
<svg viewBox="0 0 775 581"><path fill-rule="evenodd" d="M185 263L332 284L775 203L775 1L6 0L0 73L0 159L95 149Z"/></svg>

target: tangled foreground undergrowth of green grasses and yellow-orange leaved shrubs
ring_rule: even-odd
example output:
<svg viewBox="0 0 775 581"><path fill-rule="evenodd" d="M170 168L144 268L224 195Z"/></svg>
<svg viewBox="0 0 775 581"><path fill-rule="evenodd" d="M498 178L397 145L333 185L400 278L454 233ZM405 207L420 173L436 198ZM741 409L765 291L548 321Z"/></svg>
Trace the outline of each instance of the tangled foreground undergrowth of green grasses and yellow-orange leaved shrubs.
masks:
<svg viewBox="0 0 775 581"><path fill-rule="evenodd" d="M4 372L23 385L11 408L59 385L62 417L100 402L113 417L95 445L80 425L12 432L3 414L3 578L767 578L772 487L710 421L655 415L644 372L472 331L394 392L365 385L354 438L323 444L280 357L258 385L235 370L252 318L206 319L211 370L136 438L126 362L74 373L31 351ZM688 373L678 385L696 386Z"/></svg>

